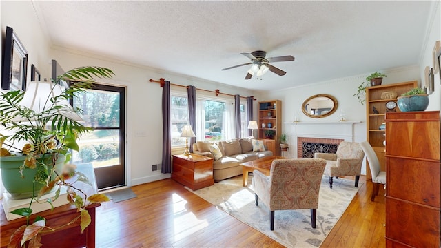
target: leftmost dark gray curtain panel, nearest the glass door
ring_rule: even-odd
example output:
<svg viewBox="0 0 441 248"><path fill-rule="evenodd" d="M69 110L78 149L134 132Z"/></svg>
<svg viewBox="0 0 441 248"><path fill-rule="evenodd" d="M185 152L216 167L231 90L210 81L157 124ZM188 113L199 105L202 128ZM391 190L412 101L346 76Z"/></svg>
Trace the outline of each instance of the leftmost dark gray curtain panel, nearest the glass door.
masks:
<svg viewBox="0 0 441 248"><path fill-rule="evenodd" d="M170 82L163 85L163 165L162 173L172 173L172 144L170 138Z"/></svg>

